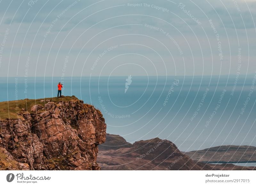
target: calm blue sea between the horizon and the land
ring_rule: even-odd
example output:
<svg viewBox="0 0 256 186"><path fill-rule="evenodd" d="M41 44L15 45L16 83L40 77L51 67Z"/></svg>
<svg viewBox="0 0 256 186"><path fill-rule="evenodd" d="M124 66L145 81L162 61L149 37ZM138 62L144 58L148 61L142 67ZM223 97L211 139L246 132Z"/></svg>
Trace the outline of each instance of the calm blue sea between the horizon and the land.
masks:
<svg viewBox="0 0 256 186"><path fill-rule="evenodd" d="M181 151L227 144L256 146L253 77L240 76L235 89L235 76L132 77L126 92L128 76L65 77L62 93L99 108L107 132L131 143L159 137L172 141ZM61 81L60 77L0 80L0 101L56 97Z"/></svg>

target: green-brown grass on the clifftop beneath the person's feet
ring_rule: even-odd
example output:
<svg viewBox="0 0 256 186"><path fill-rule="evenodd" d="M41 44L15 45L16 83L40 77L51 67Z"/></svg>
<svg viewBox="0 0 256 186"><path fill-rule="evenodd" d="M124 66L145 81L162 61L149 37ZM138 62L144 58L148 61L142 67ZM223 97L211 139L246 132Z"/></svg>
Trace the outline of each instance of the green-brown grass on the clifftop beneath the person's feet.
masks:
<svg viewBox="0 0 256 186"><path fill-rule="evenodd" d="M40 102L44 100L44 102ZM24 108L25 111L30 112L30 109L33 105L41 105L44 106L45 103L48 103L50 100L54 103L59 103L60 101L71 101L78 100L75 96L65 96L65 97L48 97L41 99L21 99L14 101L4 101L0 102L0 120L5 119L18 119L18 113L21 112L21 109Z"/></svg>

